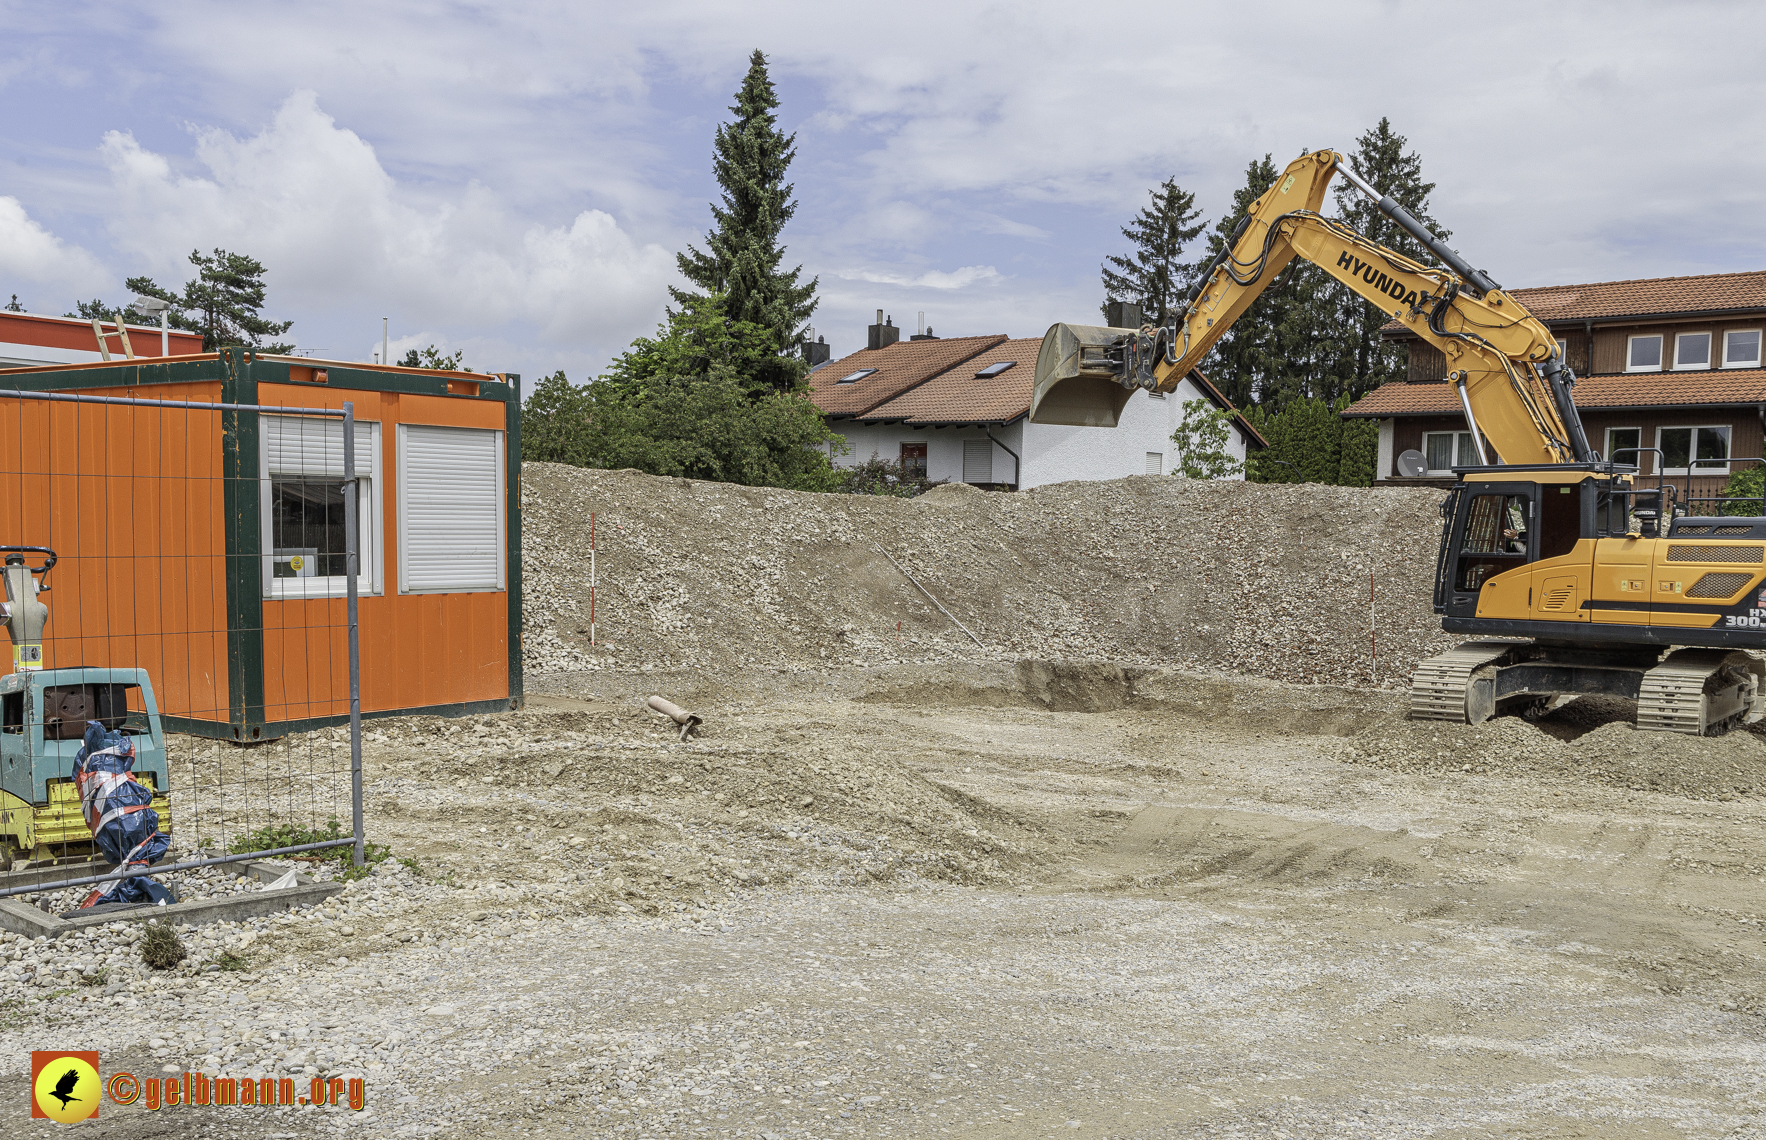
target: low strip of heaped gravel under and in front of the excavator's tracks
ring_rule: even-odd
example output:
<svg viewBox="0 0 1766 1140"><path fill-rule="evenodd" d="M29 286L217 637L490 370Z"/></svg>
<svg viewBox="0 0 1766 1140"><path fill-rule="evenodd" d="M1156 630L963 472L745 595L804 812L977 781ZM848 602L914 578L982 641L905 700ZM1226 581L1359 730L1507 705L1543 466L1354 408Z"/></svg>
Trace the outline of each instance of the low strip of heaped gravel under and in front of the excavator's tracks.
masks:
<svg viewBox="0 0 1766 1140"><path fill-rule="evenodd" d="M1339 759L1397 771L1526 775L1607 784L1694 799L1766 794L1766 736L1639 732L1630 702L1582 697L1540 722L1480 725L1386 718L1353 736Z"/></svg>

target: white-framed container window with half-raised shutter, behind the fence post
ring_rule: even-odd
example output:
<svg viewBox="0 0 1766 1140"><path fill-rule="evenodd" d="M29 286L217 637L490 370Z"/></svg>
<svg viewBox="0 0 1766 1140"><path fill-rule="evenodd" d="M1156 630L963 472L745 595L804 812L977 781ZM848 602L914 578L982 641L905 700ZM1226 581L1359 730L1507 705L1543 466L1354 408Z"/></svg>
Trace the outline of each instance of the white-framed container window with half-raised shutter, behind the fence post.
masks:
<svg viewBox="0 0 1766 1140"><path fill-rule="evenodd" d="M357 591L380 593L380 424L355 425ZM343 420L258 416L258 515L263 596L346 591Z"/></svg>

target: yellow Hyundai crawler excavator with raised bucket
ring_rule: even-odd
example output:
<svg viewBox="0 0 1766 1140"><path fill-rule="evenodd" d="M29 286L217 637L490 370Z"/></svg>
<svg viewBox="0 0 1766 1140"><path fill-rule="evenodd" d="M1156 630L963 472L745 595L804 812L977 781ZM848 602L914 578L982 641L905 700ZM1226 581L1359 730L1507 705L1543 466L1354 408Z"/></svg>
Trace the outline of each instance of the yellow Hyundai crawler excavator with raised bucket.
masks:
<svg viewBox="0 0 1766 1140"><path fill-rule="evenodd" d="M1339 173L1439 265L1323 217ZM1551 330L1333 150L1282 171L1178 311L1049 328L1031 422L1114 427L1137 388L1173 392L1294 258L1441 349L1478 455L1441 505L1434 609L1480 641L1416 665L1413 718L1538 716L1609 694L1637 702L1639 729L1717 736L1766 713L1766 517L1688 517L1639 455L1593 452Z"/></svg>

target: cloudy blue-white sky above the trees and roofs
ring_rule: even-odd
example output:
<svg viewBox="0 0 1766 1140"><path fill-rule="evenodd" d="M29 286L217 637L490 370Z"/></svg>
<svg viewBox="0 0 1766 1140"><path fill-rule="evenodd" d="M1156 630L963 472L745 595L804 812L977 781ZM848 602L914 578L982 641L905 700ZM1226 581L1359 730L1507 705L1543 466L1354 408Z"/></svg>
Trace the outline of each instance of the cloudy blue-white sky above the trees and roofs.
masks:
<svg viewBox="0 0 1766 1140"><path fill-rule="evenodd" d="M789 259L835 355L1088 319L1167 176L1219 215L1270 152L1390 116L1508 286L1766 268L1766 7L0 0L0 298L268 266L302 351L434 342L586 379L662 316L712 132L768 53Z"/></svg>

